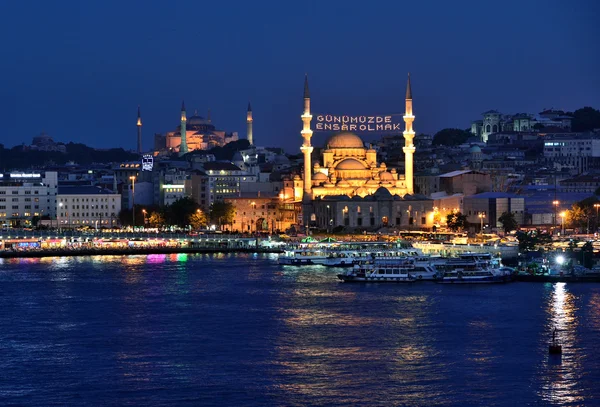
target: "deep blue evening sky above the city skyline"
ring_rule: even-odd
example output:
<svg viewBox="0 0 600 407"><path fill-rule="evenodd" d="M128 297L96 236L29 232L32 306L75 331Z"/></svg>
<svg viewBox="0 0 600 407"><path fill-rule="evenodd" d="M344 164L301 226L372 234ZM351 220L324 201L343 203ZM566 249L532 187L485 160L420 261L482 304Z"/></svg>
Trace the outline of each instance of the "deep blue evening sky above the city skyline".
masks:
<svg viewBox="0 0 600 407"><path fill-rule="evenodd" d="M467 128L488 109L600 108L600 6L589 1L3 1L0 143L144 146L188 114L297 152L314 112L402 112ZM315 145L325 135L313 138Z"/></svg>

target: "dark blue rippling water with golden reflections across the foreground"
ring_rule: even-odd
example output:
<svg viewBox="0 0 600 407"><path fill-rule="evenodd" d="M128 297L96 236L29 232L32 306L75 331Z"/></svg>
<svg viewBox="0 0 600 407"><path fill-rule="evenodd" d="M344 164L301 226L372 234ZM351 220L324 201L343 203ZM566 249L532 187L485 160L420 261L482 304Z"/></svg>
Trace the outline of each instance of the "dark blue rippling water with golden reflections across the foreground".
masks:
<svg viewBox="0 0 600 407"><path fill-rule="evenodd" d="M335 272L269 255L0 260L0 404L600 404L600 284Z"/></svg>

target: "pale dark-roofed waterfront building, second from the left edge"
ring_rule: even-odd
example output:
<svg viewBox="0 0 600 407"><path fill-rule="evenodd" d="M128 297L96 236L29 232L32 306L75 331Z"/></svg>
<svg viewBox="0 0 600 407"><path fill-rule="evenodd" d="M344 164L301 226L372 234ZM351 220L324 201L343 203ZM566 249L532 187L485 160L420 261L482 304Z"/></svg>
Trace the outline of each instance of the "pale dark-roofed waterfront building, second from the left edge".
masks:
<svg viewBox="0 0 600 407"><path fill-rule="evenodd" d="M119 223L121 195L97 186L60 186L56 205L61 228L113 227Z"/></svg>

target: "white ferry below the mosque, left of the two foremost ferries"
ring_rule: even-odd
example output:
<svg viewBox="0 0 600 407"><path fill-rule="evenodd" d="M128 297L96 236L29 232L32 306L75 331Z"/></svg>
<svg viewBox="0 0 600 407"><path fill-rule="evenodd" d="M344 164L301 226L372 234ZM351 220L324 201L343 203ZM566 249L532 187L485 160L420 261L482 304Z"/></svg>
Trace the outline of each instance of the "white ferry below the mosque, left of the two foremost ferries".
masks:
<svg viewBox="0 0 600 407"><path fill-rule="evenodd" d="M411 275L414 262L380 264L357 264L352 270L340 273L337 277L344 282L413 283L417 279Z"/></svg>

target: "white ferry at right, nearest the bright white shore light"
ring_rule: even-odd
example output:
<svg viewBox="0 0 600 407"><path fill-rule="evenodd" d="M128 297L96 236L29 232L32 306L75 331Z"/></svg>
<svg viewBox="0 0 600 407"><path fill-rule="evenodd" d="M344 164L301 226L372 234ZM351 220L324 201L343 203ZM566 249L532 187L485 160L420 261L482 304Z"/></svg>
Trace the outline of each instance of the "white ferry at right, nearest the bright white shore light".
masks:
<svg viewBox="0 0 600 407"><path fill-rule="evenodd" d="M442 284L482 284L505 283L510 281L510 273L493 268L485 262L466 259L449 259L439 266L438 283Z"/></svg>

